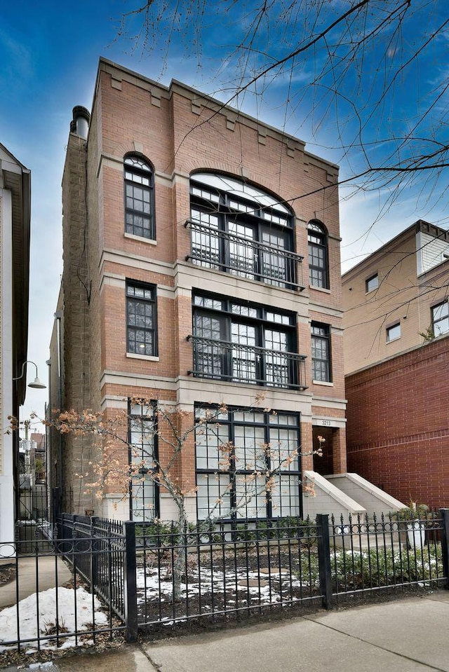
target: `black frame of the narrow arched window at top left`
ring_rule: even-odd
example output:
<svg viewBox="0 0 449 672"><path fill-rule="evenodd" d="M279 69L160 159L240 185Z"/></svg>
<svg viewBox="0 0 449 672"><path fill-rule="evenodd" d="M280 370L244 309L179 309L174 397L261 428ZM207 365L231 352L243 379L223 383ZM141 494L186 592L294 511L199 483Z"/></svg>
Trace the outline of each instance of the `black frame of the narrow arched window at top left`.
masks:
<svg viewBox="0 0 449 672"><path fill-rule="evenodd" d="M135 154L128 154L123 160L123 198L125 206L125 233L138 236L138 238L145 238L145 240L156 240L156 218L154 208L154 170L152 165L141 156ZM147 184L144 182L147 181ZM133 193L128 193L129 190ZM138 203L139 199L135 198L135 190L142 189L142 203L148 203L149 212L145 212L143 208L131 207L128 203L128 198L133 200L134 205ZM144 194L148 195L148 200L145 200ZM133 219L133 222L128 222L128 217ZM141 217L142 225L134 224L134 218ZM144 220L148 222L148 226L144 226ZM141 231L141 233L140 233Z"/></svg>

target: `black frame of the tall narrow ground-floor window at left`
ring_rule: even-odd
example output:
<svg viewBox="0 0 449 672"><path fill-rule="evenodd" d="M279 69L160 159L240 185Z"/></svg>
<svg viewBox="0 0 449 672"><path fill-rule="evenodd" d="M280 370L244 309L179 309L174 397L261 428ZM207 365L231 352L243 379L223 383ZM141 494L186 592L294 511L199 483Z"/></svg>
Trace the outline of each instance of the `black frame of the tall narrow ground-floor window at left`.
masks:
<svg viewBox="0 0 449 672"><path fill-rule="evenodd" d="M138 411L135 413L134 411ZM150 522L159 518L159 483L154 479L157 472L156 463L158 459L158 434L157 434L157 402L151 400L147 405L140 402L131 404L128 399L128 465L129 465L129 515L131 521ZM141 431L133 430L132 418L140 418ZM142 423L151 423L152 429L152 451L151 454L145 454ZM133 442L133 434L140 433L142 440L139 444ZM141 454L138 454L141 453ZM133 466L134 465L134 466ZM150 474L150 475L148 475ZM148 487L149 486L149 487ZM149 491L149 496L147 496ZM142 507L137 507L136 503L141 501ZM147 508L145 503L148 503ZM138 515L138 512L151 512L148 516Z"/></svg>

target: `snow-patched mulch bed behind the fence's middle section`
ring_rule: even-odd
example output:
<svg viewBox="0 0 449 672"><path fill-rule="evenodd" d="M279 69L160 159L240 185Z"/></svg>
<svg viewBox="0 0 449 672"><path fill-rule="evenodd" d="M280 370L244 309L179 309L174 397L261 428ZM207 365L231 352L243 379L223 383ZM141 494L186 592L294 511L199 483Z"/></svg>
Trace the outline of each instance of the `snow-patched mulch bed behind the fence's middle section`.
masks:
<svg viewBox="0 0 449 672"><path fill-rule="evenodd" d="M304 556L303 560L307 550ZM300 581L300 558L293 558L292 549L289 553L287 547L193 556L187 561L187 577L181 577L181 582L189 585L187 595L184 592L180 601L174 602L170 558L148 554L147 560L150 558L154 562L145 567L148 585L147 590L140 587L138 591L138 610L140 624L148 624L153 632L167 631L175 622L181 630L189 623L187 629L192 631L194 622L201 630L217 622L321 606L319 587L311 585L308 573ZM294 572L291 576L289 567Z"/></svg>

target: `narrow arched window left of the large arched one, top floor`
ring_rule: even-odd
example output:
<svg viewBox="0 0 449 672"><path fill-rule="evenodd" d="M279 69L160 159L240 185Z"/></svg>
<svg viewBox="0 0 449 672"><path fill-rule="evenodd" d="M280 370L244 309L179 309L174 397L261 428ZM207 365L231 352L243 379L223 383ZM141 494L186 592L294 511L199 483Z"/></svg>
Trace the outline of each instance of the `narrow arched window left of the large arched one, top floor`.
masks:
<svg viewBox="0 0 449 672"><path fill-rule="evenodd" d="M156 238L154 179L151 167L138 156L125 159L125 231L141 238Z"/></svg>

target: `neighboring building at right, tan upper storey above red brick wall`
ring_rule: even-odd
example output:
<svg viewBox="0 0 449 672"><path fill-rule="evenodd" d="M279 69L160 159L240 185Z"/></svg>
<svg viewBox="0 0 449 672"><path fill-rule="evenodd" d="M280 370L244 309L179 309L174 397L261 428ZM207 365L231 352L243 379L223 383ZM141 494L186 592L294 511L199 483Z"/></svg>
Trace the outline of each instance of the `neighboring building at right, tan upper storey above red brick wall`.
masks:
<svg viewBox="0 0 449 672"><path fill-rule="evenodd" d="M350 471L449 506L449 231L419 220L342 278Z"/></svg>

